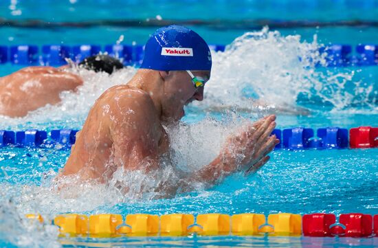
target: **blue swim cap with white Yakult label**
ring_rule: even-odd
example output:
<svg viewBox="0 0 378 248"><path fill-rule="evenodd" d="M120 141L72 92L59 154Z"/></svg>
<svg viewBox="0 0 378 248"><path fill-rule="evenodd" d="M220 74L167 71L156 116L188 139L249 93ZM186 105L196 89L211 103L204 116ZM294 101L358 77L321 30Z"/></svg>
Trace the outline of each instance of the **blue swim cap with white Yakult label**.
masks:
<svg viewBox="0 0 378 248"><path fill-rule="evenodd" d="M159 28L148 39L140 68L159 71L211 69L208 44L187 27L169 25Z"/></svg>

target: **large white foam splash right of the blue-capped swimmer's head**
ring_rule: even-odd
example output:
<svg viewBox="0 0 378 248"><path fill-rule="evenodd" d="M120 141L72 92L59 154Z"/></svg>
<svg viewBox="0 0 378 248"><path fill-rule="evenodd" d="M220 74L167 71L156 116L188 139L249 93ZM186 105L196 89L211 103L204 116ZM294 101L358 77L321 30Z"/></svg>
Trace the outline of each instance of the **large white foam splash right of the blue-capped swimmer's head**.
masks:
<svg viewBox="0 0 378 248"><path fill-rule="evenodd" d="M329 103L331 109L340 111L359 102L359 106L366 104L377 110L377 91L362 81L354 82L357 71L318 67L327 63L326 54L318 52L320 47L316 36L307 43L301 42L298 35L281 36L267 28L246 33L225 52L214 54L205 104L253 109L252 100L258 98L285 110L296 106L298 96L304 95L307 99L318 98L313 109L318 108L317 104Z"/></svg>

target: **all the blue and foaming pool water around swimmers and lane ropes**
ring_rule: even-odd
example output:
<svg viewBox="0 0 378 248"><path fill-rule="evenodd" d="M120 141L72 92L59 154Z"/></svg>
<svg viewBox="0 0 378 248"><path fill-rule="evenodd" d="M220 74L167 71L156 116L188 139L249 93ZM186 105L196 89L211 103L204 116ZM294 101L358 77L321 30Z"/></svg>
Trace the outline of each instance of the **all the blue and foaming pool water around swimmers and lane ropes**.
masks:
<svg viewBox="0 0 378 248"><path fill-rule="evenodd" d="M376 21L377 1L2 1L0 16L22 21L93 20L221 20L221 25L188 25L208 43L229 45L213 53L212 78L205 87L205 100L186 109L182 123L169 130L175 166L188 172L208 164L229 133L245 120L276 113L278 128L304 126L377 126L378 67L323 67L324 57L315 51L321 44L378 44L378 27L288 27L252 30L230 25L241 19L284 21ZM54 3L54 4L53 4ZM182 6L185 11L173 11ZM210 4L210 3L209 3ZM278 14L278 10L280 14ZM91 14L82 14L89 12ZM290 14L287 14L290 13ZM126 16L126 17L125 17ZM232 27L232 28L231 28ZM16 27L2 25L1 45L21 43L76 45L115 43L143 44L153 26L93 25L91 27ZM245 32L251 32L245 34ZM99 36L99 34L104 34ZM298 58L301 58L300 60ZM19 69L0 65L0 76ZM74 71L85 83L76 93L62 93L62 103L45 106L23 118L0 117L0 129L80 129L98 96L115 84L126 83L136 69L126 67L108 76ZM269 107L256 106L254 98ZM277 109L281 109L277 111ZM154 177L120 174L118 180L135 189L123 194L109 185L78 185L57 191L54 177L63 168L69 150L60 148L0 148L0 247L377 247L378 238L308 238L274 236L188 237L58 237L53 225L29 225L23 217L56 214L223 214L290 212L378 214L378 149L274 150L271 160L256 174L242 172L205 189L170 198L140 194L142 185L153 187ZM164 170L163 172L166 172ZM168 175L168 176L167 176ZM161 180L170 174L162 173ZM174 178L174 177L173 177ZM174 180L174 179L172 179Z"/></svg>

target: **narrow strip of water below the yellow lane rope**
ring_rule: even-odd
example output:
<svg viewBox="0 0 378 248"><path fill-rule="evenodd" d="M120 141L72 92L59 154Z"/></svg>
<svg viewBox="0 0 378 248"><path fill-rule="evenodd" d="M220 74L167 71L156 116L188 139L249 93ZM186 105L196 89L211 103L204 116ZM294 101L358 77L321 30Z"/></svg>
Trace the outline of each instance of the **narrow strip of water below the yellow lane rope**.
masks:
<svg viewBox="0 0 378 248"><path fill-rule="evenodd" d="M63 247L376 247L377 238L309 238L309 237L127 237L61 238ZM12 247L12 245L9 245Z"/></svg>

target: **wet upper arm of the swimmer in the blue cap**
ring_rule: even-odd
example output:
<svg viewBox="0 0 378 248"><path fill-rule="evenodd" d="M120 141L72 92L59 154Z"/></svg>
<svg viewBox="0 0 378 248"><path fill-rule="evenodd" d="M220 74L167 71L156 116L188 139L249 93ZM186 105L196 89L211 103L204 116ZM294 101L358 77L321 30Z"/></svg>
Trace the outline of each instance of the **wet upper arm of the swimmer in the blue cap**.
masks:
<svg viewBox="0 0 378 248"><path fill-rule="evenodd" d="M116 95L111 106L111 139L115 164L126 170L153 170L158 166L156 113L148 95Z"/></svg>

